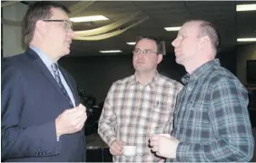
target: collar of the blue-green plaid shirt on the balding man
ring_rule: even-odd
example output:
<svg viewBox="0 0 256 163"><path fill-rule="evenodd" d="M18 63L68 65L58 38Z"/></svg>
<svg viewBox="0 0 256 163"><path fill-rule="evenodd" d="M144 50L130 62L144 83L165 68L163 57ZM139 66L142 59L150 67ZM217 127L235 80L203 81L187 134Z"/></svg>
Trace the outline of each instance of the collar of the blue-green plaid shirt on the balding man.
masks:
<svg viewBox="0 0 256 163"><path fill-rule="evenodd" d="M209 69L211 69L213 66L219 66L221 65L220 60L219 59L214 59L210 62L205 62L204 64L202 64L202 66L200 66L199 68L197 68L196 70L194 70L192 72L192 74L185 74L182 77L182 83L186 84L187 82L189 82L192 79L198 79L200 76L202 76L203 74L205 74L205 72L207 72Z"/></svg>

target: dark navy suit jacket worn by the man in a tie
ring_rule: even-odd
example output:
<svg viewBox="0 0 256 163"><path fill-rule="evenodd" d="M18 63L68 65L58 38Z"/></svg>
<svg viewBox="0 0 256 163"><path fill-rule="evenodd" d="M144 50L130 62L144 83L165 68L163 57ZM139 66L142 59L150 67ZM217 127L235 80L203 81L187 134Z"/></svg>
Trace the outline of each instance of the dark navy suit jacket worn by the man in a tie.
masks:
<svg viewBox="0 0 256 163"><path fill-rule="evenodd" d="M60 67L80 102L74 79ZM32 50L2 60L2 161L84 161L84 129L56 139L54 120L74 108Z"/></svg>

